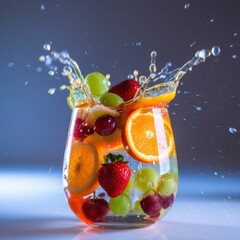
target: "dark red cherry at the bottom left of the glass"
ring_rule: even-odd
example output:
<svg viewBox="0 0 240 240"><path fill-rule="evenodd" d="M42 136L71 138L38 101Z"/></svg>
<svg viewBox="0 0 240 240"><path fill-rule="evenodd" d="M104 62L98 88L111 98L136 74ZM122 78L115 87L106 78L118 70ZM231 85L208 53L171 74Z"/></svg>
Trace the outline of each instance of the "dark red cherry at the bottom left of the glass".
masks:
<svg viewBox="0 0 240 240"><path fill-rule="evenodd" d="M109 212L109 206L103 198L87 199L82 205L82 211L90 221L103 222Z"/></svg>

